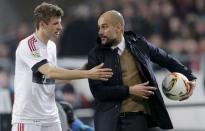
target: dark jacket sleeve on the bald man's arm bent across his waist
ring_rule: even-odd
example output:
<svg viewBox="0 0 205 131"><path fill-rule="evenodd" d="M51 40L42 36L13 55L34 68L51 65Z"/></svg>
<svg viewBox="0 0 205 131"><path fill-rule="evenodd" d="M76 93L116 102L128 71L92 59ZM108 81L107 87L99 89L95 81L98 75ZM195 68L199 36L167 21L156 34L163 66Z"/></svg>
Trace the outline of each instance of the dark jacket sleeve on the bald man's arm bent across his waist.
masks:
<svg viewBox="0 0 205 131"><path fill-rule="evenodd" d="M100 64L102 61L98 59L99 55L90 53L88 56L88 69ZM129 89L123 85L110 84L108 81L91 80L89 79L90 90L95 99L99 101L119 101L129 95Z"/></svg>

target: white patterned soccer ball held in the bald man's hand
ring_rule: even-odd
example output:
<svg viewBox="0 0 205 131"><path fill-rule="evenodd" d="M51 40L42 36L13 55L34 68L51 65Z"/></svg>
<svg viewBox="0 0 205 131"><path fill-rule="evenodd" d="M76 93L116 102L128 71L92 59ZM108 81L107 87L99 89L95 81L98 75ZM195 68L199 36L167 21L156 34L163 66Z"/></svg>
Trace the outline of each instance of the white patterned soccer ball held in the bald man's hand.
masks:
<svg viewBox="0 0 205 131"><path fill-rule="evenodd" d="M162 81L162 91L171 100L180 100L188 91L188 79L181 73L168 74Z"/></svg>

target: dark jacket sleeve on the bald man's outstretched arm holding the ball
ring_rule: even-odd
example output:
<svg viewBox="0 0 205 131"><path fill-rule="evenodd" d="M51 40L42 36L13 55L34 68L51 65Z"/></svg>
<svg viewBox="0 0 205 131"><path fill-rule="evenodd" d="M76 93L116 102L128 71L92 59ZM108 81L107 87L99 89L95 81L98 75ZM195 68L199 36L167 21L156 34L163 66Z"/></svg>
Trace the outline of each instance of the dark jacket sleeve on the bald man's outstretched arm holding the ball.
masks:
<svg viewBox="0 0 205 131"><path fill-rule="evenodd" d="M196 79L196 77L192 74L192 71L188 67L184 66L179 60L177 60L164 50L155 47L145 39L144 41L148 46L148 55L151 61L157 63L161 67L167 68L170 72L179 72L184 74L190 81Z"/></svg>

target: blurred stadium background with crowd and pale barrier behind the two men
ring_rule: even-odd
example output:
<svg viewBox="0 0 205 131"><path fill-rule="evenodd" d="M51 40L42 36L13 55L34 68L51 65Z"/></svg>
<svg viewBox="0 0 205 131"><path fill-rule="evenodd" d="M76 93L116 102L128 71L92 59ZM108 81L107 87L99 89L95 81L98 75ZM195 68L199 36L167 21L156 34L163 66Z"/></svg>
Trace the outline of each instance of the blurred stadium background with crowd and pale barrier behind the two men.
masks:
<svg viewBox="0 0 205 131"><path fill-rule="evenodd" d="M15 49L34 31L32 13L42 0L0 0L0 131L10 131ZM189 66L198 77L193 96L183 102L164 97L175 129L205 131L205 1L204 0L50 0L65 12L64 32L57 41L59 65L78 68L86 62L97 36L97 18L120 11L126 30L144 35ZM154 65L159 84L168 73ZM93 98L87 80L58 85L57 100L70 101L76 114L93 125ZM66 87L66 88L65 88Z"/></svg>

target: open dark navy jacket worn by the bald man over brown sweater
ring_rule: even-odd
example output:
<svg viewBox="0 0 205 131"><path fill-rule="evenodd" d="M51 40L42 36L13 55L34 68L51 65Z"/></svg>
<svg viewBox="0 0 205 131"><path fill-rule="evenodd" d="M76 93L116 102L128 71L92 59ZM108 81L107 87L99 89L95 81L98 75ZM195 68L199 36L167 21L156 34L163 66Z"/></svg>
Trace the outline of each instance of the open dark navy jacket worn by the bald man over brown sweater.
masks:
<svg viewBox="0 0 205 131"><path fill-rule="evenodd" d="M180 72L189 80L196 79L191 70L143 37L136 36L130 31L125 32L124 37L126 48L140 63L138 67L140 75L144 81L149 81L150 86L158 88L151 62L167 68L170 72ZM89 53L88 68L91 69L102 62L104 67L112 68L114 75L108 81L89 79L90 90L96 102L95 131L116 131L121 102L129 96L129 90L126 85L123 85L117 54L110 47L98 44ZM151 116L148 120L149 127L173 128L159 89L149 99L149 106L151 109Z"/></svg>

